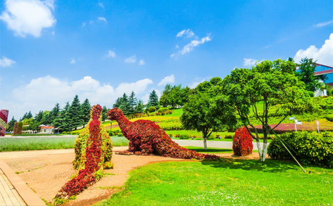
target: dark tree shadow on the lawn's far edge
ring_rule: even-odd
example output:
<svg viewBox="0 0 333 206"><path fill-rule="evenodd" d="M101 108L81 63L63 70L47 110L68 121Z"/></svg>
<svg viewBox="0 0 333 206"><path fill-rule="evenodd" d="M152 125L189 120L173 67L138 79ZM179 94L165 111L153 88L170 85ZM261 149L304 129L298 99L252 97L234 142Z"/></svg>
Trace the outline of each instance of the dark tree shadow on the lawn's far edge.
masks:
<svg viewBox="0 0 333 206"><path fill-rule="evenodd" d="M263 163L258 159L221 159L220 161L201 161L201 164L214 168L242 169L274 173L286 170L300 170L300 172L302 172L301 168L295 163L282 162L273 159L266 159Z"/></svg>

